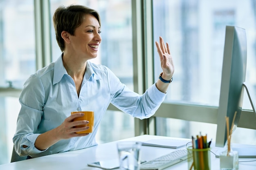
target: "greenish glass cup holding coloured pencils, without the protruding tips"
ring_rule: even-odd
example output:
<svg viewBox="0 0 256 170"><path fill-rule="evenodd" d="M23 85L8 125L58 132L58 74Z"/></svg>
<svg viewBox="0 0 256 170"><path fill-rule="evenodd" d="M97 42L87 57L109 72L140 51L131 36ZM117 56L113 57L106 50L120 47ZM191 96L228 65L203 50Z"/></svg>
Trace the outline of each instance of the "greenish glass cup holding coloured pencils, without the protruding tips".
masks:
<svg viewBox="0 0 256 170"><path fill-rule="evenodd" d="M187 146L189 170L211 170L211 148L193 149Z"/></svg>

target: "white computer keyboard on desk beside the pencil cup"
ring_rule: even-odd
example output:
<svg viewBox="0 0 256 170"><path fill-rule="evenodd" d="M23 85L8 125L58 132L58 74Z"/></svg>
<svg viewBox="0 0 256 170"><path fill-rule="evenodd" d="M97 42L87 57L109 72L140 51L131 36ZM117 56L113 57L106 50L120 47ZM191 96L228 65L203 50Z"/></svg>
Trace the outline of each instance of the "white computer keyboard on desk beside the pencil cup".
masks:
<svg viewBox="0 0 256 170"><path fill-rule="evenodd" d="M162 170L164 168L167 168L168 166L174 165L175 163L184 161L184 159L187 159L188 155L189 155L189 152L186 149L175 150L161 157L157 157L150 161L141 163L140 169L141 170Z"/></svg>

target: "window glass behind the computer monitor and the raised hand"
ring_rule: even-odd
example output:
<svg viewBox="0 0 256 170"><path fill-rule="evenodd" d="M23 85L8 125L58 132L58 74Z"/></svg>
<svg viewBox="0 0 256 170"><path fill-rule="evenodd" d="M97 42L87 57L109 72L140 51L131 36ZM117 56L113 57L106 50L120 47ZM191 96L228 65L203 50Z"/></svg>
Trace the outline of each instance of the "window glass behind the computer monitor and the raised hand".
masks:
<svg viewBox="0 0 256 170"><path fill-rule="evenodd" d="M175 62L173 82L166 102L218 106L225 42L225 26L239 26L247 33L246 81L256 88L256 2L254 0L153 0L153 33L170 44ZM161 68L155 56L155 80ZM256 94L252 94L256 95ZM251 109L245 93L243 109ZM170 110L170 114L171 110ZM191 138L201 127L213 139L216 124L157 117L157 135ZM239 130L255 143L256 130ZM254 135L252 135L254 134ZM241 141L242 142L242 141Z"/></svg>

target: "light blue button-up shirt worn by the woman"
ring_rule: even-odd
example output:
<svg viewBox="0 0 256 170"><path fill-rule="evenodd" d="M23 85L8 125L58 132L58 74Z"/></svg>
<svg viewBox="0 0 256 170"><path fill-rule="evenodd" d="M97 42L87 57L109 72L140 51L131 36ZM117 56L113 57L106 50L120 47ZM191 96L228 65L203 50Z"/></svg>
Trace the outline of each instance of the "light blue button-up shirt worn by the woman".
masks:
<svg viewBox="0 0 256 170"><path fill-rule="evenodd" d="M87 61L78 97L74 81L63 66L62 57L31 75L20 94L20 113L13 143L21 156L39 157L58 152L79 150L97 145L95 135L108 105L112 103L132 117L152 116L164 101L166 93L155 84L143 95L129 90L102 65ZM61 125L72 111L93 110L94 129L85 137L63 139L44 151L35 148L38 135ZM22 146L28 146L23 148Z"/></svg>

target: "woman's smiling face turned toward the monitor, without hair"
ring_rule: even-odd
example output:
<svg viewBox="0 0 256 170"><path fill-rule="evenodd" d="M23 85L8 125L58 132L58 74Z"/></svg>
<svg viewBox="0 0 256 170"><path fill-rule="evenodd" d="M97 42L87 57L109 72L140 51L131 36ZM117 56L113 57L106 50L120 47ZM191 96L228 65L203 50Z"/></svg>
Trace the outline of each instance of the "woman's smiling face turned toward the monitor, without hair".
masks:
<svg viewBox="0 0 256 170"><path fill-rule="evenodd" d="M101 43L101 28L99 21L91 14L85 14L83 23L69 34L69 43L65 51L79 55L86 60L97 57L98 47Z"/></svg>

